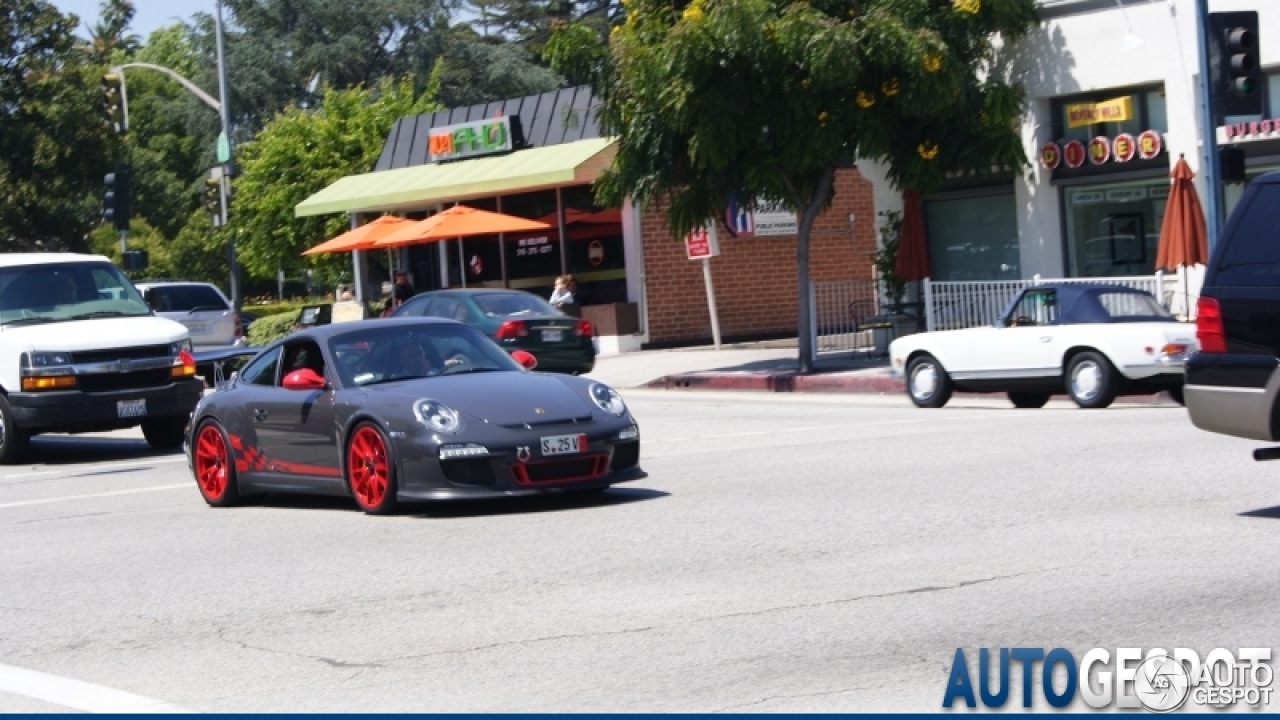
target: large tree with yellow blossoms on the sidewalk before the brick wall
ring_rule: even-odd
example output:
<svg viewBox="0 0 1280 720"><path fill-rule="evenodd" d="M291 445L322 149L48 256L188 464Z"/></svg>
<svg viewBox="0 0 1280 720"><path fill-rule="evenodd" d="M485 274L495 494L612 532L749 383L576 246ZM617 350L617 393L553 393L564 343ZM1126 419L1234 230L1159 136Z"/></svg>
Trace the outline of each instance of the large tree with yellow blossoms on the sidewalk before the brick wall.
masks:
<svg viewBox="0 0 1280 720"><path fill-rule="evenodd" d="M951 169L1025 164L1021 88L1004 46L1036 22L1033 0L627 0L609 51L557 38L561 72L595 78L618 137L602 201L660 202L675 236L764 199L799 219L799 336L808 337L809 234L836 169L879 160L928 191ZM799 369L813 369L800 343Z"/></svg>

